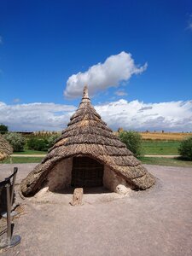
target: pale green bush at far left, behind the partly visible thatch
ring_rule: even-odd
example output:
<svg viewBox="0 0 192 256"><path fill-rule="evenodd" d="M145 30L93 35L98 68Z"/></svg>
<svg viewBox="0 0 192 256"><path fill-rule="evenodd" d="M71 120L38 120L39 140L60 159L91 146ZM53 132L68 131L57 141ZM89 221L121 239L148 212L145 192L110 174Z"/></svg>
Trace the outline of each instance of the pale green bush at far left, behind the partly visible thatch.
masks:
<svg viewBox="0 0 192 256"><path fill-rule="evenodd" d="M14 148L14 152L20 152L24 150L26 141L20 133L8 132L4 135L4 137Z"/></svg>

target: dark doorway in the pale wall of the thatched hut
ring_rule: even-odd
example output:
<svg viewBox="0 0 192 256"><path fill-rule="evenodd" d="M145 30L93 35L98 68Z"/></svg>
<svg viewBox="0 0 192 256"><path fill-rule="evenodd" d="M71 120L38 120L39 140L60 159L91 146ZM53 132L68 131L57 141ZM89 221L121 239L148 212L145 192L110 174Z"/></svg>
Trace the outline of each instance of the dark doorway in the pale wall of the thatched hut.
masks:
<svg viewBox="0 0 192 256"><path fill-rule="evenodd" d="M102 164L89 157L73 157L72 186L100 187L102 177Z"/></svg>

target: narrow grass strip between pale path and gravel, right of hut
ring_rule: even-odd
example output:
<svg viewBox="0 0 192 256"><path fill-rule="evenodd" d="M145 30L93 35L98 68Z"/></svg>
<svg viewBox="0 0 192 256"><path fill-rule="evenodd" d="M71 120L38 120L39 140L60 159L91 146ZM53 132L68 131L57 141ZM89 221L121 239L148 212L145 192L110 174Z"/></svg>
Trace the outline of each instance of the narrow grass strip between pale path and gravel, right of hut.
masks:
<svg viewBox="0 0 192 256"><path fill-rule="evenodd" d="M180 158L139 157L138 159L147 165L192 167L192 161Z"/></svg>

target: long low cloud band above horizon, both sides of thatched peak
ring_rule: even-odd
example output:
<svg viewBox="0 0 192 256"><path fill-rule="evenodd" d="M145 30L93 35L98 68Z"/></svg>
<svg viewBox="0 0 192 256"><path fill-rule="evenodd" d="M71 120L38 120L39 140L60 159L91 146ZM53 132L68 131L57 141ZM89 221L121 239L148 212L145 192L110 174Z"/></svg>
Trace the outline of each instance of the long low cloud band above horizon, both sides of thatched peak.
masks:
<svg viewBox="0 0 192 256"><path fill-rule="evenodd" d="M144 103L120 99L95 106L114 131L191 131L192 101ZM0 123L12 131L61 131L76 107L55 103L7 105L0 102Z"/></svg>

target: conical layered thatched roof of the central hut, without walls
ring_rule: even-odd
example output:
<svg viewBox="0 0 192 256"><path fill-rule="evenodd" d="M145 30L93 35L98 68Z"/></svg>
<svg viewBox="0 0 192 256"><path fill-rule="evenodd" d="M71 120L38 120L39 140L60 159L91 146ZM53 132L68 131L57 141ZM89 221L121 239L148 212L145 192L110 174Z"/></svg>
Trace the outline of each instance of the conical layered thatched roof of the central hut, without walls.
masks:
<svg viewBox="0 0 192 256"><path fill-rule="evenodd" d="M73 156L88 156L109 166L137 189L148 189L154 177L141 166L113 131L102 121L90 103L87 87L78 110L70 119L67 129L49 149L44 160L21 183L24 195L33 195L44 183L45 177L55 164Z"/></svg>

